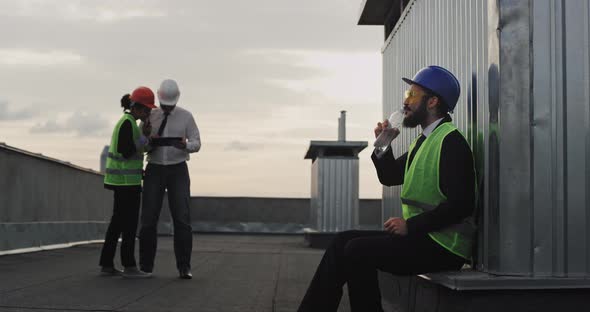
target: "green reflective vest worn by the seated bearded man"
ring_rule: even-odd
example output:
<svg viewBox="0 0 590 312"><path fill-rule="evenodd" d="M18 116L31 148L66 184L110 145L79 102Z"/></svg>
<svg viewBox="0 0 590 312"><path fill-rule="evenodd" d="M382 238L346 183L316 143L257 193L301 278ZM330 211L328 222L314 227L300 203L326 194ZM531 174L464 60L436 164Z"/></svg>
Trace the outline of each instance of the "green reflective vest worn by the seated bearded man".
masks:
<svg viewBox="0 0 590 312"><path fill-rule="evenodd" d="M404 219L433 210L447 200L439 185L440 154L445 137L455 130L457 128L451 122L439 125L426 137L412 163L408 165L406 162L401 193ZM410 145L408 155L412 154L416 142L417 140ZM438 232L430 232L428 235L453 254L469 260L474 232L475 226L468 218L460 224L446 227Z"/></svg>

